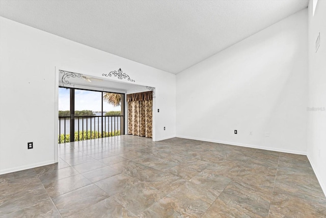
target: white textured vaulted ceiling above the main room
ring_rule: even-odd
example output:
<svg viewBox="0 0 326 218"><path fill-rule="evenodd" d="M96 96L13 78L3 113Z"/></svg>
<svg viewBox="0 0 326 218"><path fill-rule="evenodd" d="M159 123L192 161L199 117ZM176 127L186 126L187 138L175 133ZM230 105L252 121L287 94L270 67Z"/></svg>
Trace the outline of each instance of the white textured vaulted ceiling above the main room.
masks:
<svg viewBox="0 0 326 218"><path fill-rule="evenodd" d="M177 74L308 0L0 1L0 15Z"/></svg>

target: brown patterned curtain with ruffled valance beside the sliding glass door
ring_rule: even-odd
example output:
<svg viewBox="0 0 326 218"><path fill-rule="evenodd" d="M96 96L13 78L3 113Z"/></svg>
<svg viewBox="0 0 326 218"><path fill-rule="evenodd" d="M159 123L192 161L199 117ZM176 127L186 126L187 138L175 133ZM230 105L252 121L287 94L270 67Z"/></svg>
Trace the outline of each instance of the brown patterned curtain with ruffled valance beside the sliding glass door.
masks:
<svg viewBox="0 0 326 218"><path fill-rule="evenodd" d="M153 92L127 94L128 134L152 137Z"/></svg>

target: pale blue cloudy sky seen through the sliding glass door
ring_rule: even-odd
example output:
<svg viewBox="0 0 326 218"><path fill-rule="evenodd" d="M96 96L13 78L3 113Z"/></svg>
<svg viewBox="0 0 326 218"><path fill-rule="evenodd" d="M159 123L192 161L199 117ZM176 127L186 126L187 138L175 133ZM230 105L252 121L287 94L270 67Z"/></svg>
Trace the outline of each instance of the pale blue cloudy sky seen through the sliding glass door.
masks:
<svg viewBox="0 0 326 218"><path fill-rule="evenodd" d="M101 110L102 93L98 91L87 91L75 89L75 110ZM70 110L70 90L59 88L59 110ZM104 111L120 111L121 107L114 107L103 102Z"/></svg>

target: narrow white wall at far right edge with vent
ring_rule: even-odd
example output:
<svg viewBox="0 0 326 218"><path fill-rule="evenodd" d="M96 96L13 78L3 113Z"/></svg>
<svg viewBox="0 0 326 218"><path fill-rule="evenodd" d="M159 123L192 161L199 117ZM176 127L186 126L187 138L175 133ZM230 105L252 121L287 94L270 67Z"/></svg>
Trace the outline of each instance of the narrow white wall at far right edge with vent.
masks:
<svg viewBox="0 0 326 218"><path fill-rule="evenodd" d="M308 6L309 96L308 158L326 195L326 1L318 1L312 16L312 1ZM320 33L320 46L315 43ZM321 110L319 110L320 108ZM322 111L322 109L325 109ZM319 110L319 111L318 111Z"/></svg>

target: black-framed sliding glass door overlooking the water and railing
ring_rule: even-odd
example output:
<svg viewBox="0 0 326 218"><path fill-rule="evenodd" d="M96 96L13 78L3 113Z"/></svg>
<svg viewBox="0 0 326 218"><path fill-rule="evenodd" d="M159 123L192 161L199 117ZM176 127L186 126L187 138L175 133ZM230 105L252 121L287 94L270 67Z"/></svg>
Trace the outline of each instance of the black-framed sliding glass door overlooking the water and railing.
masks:
<svg viewBox="0 0 326 218"><path fill-rule="evenodd" d="M124 135L125 94L59 87L58 143Z"/></svg>

